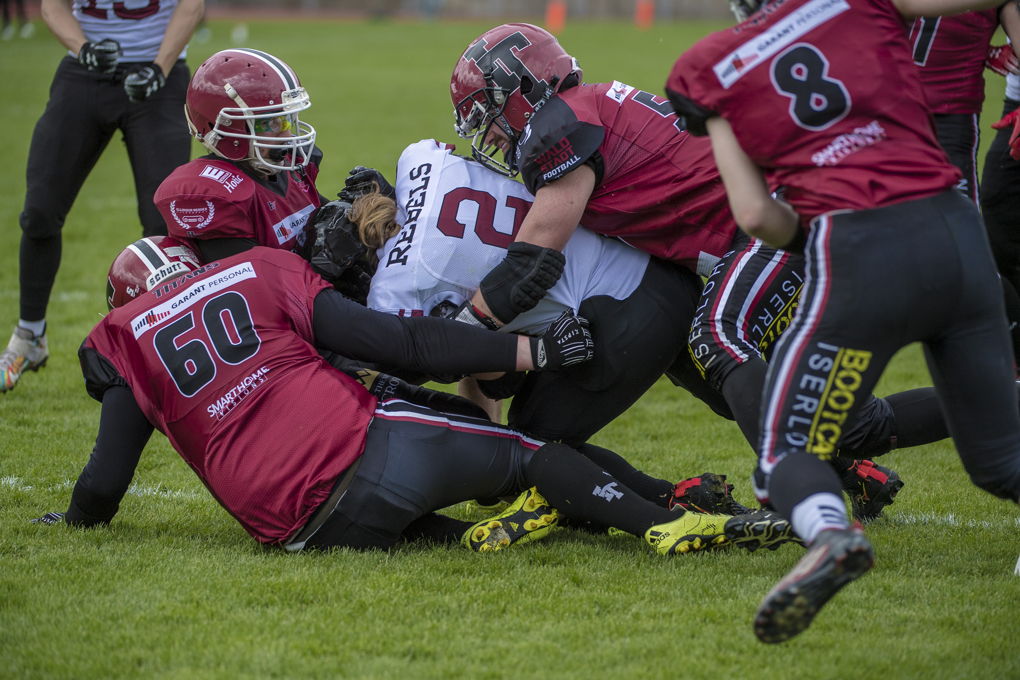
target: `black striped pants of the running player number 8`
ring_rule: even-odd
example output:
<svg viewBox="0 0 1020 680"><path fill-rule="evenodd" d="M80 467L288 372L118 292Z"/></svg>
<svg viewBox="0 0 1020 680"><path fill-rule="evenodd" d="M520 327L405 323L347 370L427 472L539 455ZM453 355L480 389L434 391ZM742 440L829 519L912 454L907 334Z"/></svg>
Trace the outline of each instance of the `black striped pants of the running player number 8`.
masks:
<svg viewBox="0 0 1020 680"><path fill-rule="evenodd" d="M755 490L789 517L836 491L836 452L892 355L921 342L964 468L1020 498L1020 414L1002 285L976 206L956 190L822 215L801 307L769 364Z"/></svg>

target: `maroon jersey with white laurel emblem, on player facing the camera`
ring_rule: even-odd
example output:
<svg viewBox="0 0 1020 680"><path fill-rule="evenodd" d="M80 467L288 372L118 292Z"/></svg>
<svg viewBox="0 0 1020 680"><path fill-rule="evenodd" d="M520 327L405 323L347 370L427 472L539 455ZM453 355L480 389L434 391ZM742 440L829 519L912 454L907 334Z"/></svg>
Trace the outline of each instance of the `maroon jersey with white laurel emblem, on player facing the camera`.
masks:
<svg viewBox="0 0 1020 680"><path fill-rule="evenodd" d="M303 245L304 226L319 206L315 176L284 171L255 181L237 165L204 156L182 165L153 199L170 236L187 239L254 239L259 246L294 250Z"/></svg>

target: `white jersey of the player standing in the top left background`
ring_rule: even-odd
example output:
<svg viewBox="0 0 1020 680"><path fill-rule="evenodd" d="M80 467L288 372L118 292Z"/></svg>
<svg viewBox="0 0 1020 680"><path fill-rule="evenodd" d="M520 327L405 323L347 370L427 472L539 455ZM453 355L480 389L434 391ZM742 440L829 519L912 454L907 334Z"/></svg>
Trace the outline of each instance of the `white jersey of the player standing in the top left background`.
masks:
<svg viewBox="0 0 1020 680"><path fill-rule="evenodd" d="M152 61L176 6L177 0L74 0L73 14L90 43L120 43L120 61ZM180 58L187 54L185 46Z"/></svg>

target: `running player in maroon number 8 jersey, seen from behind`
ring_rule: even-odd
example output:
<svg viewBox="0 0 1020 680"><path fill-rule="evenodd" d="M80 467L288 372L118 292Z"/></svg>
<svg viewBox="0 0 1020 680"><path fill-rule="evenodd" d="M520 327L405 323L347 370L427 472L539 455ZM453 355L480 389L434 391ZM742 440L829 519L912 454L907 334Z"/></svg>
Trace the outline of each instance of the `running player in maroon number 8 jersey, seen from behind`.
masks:
<svg viewBox="0 0 1020 680"><path fill-rule="evenodd" d="M992 3L734 4L747 10L740 27L684 53L666 89L686 127L711 136L741 226L807 256L801 308L768 371L755 473L759 500L811 546L755 619L758 637L778 642L874 564L867 538L848 526L828 437L903 346L924 345L972 481L1020 498L1002 285L980 214L955 189L960 171L935 139L903 30L905 16ZM788 204L770 198L778 187Z"/></svg>

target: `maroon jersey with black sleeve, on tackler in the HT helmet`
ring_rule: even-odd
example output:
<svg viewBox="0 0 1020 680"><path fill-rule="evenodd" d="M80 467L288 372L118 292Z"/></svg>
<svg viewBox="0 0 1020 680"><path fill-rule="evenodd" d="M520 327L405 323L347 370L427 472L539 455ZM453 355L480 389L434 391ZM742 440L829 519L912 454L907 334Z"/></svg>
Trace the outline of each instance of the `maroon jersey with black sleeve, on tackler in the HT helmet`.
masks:
<svg viewBox="0 0 1020 680"><path fill-rule="evenodd" d="M701 274L729 250L736 222L712 147L682 132L662 97L617 82L571 88L534 114L518 154L532 194L593 166L596 187L580 220L593 231Z"/></svg>

